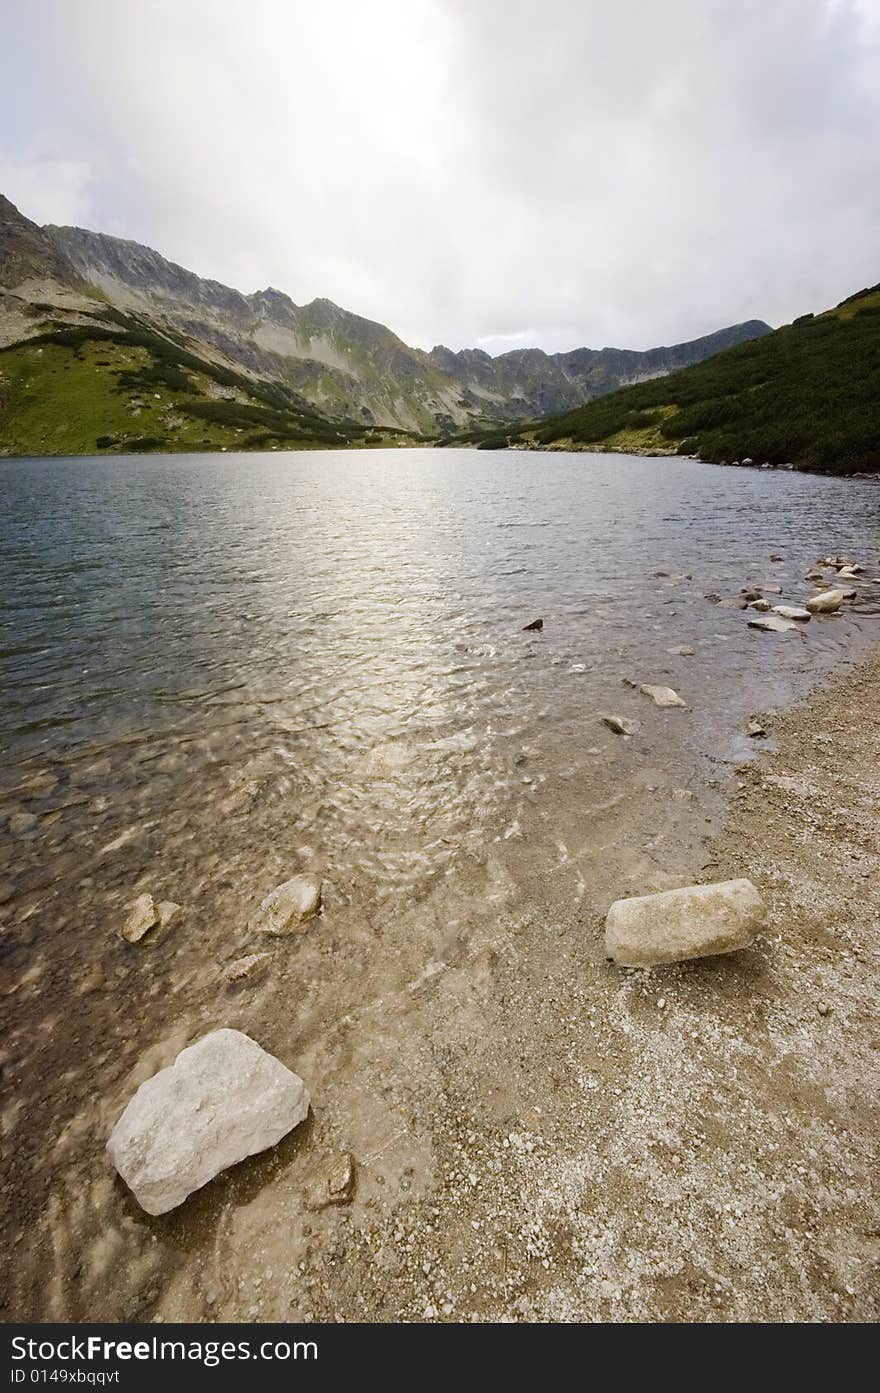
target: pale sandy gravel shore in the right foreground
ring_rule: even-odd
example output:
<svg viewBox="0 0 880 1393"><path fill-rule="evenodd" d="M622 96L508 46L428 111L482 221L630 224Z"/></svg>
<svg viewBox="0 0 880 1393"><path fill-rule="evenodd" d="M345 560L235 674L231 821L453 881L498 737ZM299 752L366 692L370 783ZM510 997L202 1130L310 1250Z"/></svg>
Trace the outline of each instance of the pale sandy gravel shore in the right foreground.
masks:
<svg viewBox="0 0 880 1393"><path fill-rule="evenodd" d="M304 1212L302 1167L266 1162L153 1314L876 1318L879 698L874 657L741 770L693 871L757 882L753 950L621 972L600 917L489 917L373 1013L384 1141L351 1208Z"/></svg>

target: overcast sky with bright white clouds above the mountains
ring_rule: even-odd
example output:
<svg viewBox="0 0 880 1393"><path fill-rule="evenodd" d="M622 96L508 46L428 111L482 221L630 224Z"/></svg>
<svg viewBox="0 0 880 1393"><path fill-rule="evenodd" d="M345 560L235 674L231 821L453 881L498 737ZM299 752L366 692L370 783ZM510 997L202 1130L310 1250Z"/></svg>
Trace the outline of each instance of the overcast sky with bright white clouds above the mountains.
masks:
<svg viewBox="0 0 880 1393"><path fill-rule="evenodd" d="M407 341L880 280L880 0L0 0L0 191Z"/></svg>

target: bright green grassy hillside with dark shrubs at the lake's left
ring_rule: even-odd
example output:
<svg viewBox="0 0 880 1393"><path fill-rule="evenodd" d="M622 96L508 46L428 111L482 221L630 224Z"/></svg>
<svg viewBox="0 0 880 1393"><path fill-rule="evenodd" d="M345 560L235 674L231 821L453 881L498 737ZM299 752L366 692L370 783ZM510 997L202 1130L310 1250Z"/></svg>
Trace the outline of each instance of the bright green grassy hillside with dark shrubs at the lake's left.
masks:
<svg viewBox="0 0 880 1393"><path fill-rule="evenodd" d="M182 337L116 309L46 320L0 348L0 453L125 454L393 443L330 422L291 389L205 358Z"/></svg>

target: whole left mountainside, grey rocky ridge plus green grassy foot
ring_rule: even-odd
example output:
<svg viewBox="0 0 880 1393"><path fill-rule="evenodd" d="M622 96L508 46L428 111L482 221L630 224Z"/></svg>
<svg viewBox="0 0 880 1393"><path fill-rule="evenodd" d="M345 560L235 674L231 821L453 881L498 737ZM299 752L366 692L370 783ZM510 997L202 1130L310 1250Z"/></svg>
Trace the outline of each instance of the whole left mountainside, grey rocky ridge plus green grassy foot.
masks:
<svg viewBox="0 0 880 1393"><path fill-rule="evenodd" d="M0 196L7 454L451 440L571 411L769 333L749 320L643 352L425 352L329 299L245 295L138 242L39 227Z"/></svg>

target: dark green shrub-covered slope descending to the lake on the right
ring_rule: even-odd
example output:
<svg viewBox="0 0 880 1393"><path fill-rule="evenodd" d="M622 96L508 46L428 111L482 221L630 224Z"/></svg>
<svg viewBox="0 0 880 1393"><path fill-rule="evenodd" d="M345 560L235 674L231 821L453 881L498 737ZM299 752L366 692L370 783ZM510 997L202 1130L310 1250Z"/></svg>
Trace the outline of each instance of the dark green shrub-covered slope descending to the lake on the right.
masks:
<svg viewBox="0 0 880 1393"><path fill-rule="evenodd" d="M880 286L667 378L483 439L880 471Z"/></svg>

